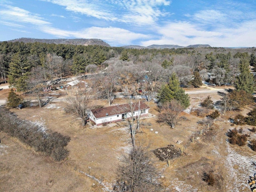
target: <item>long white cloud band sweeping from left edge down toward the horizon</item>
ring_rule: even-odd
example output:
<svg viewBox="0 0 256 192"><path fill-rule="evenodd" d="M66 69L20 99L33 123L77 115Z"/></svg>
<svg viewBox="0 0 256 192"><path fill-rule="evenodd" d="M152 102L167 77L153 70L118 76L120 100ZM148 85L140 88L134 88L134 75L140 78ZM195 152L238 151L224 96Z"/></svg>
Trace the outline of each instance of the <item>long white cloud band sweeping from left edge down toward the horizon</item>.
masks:
<svg viewBox="0 0 256 192"><path fill-rule="evenodd" d="M44 21L43 18L36 14L32 14L24 9L12 6L8 6L8 9L1 11L0 17L3 20L6 20L1 21L2 24L20 28L24 27L22 24L31 24L37 30L60 38L100 38L112 43L113 45L130 44L132 41L137 39L150 38L148 35L114 27L89 27L77 31L62 30L53 27L50 22ZM16 20L19 21L19 24L15 24Z"/></svg>

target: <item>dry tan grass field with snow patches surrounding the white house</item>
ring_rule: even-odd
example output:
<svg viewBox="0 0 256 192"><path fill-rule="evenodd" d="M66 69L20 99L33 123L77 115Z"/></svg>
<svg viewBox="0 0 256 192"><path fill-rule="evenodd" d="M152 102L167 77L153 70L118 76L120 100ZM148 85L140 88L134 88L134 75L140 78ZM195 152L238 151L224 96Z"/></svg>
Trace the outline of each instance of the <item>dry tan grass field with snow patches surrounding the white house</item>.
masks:
<svg viewBox="0 0 256 192"><path fill-rule="evenodd" d="M207 95L191 95L191 106L198 107L199 102ZM211 96L214 101L220 99L216 94ZM120 102L124 101L114 100L113 104ZM100 104L107 106L106 101ZM0 132L1 192L103 191L98 182L79 171L94 176L111 188L116 178L119 158L132 146L126 122L98 127L88 124L82 127L79 119L64 111L65 105L65 102L56 102L43 108L11 110L21 119L36 122L46 129L70 136L71 141L67 146L70 155L63 162L56 163ZM150 150L168 144L174 144L183 150L179 158L171 161L170 167L166 162L154 158L166 191L250 191L247 181L248 177L256 172L255 166L252 165L256 152L248 146L232 146L226 142L226 132L234 128L228 119L238 112L222 115L211 130L200 135L200 130L205 126L202 127L197 122L202 118L182 112L180 116L183 120L171 129L166 124L156 122L156 104L150 102L148 105L150 118L143 119L140 132L136 134L137 143L149 146ZM250 108L245 111L248 110ZM244 132L249 133L248 128L250 126L244 126ZM194 143L191 142L193 136ZM255 133L251 133L251 138L255 137ZM181 143L177 144L177 141ZM208 186L202 180L203 172L210 170L214 171L217 179L214 186Z"/></svg>

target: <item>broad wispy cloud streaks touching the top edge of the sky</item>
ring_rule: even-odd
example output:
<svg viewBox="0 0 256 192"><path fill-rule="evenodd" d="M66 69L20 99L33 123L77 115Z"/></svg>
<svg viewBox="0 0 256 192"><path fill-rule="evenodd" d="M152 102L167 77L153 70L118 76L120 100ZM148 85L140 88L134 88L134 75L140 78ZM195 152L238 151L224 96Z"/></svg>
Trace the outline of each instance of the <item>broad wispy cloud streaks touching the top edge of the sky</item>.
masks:
<svg viewBox="0 0 256 192"><path fill-rule="evenodd" d="M107 21L132 23L136 25L154 24L160 16L167 13L159 6L168 6L170 0L47 0L64 6L66 10L85 14ZM117 12L119 10L119 12Z"/></svg>

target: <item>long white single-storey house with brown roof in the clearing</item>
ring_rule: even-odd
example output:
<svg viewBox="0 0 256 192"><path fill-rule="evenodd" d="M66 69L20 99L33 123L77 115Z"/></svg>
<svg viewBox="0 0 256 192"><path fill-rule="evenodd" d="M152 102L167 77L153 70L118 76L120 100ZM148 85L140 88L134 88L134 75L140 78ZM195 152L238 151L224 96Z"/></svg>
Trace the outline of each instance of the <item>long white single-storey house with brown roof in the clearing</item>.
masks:
<svg viewBox="0 0 256 192"><path fill-rule="evenodd" d="M137 102L132 104L133 117L136 116L148 116L148 110L150 109L144 102ZM116 106L109 106L104 108L98 108L91 110L88 114L89 119L96 125L102 125L106 123L113 123L131 118L131 107L129 104L122 104Z"/></svg>

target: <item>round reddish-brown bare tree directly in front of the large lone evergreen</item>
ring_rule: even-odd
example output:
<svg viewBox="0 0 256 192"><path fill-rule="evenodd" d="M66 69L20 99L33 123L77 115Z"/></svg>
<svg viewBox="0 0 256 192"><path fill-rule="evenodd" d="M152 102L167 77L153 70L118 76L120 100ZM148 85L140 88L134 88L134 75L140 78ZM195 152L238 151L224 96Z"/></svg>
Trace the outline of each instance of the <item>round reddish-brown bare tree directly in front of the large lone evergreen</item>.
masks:
<svg viewBox="0 0 256 192"><path fill-rule="evenodd" d="M178 122L178 115L184 110L183 106L176 100L171 100L163 104L160 114L158 114L158 121L165 122L172 128Z"/></svg>

